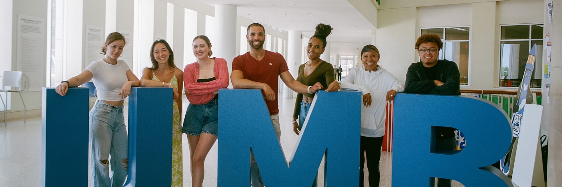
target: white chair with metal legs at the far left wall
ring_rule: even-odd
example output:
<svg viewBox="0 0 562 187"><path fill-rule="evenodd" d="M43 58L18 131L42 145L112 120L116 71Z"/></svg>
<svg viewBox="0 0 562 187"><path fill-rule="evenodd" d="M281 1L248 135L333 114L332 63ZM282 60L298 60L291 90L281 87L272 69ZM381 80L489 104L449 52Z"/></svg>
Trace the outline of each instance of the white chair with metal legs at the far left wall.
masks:
<svg viewBox="0 0 562 187"><path fill-rule="evenodd" d="M4 89L6 88L6 86L10 86L10 89ZM11 87L17 87L17 89L12 89ZM24 98L21 96L21 91L23 91L24 89L25 88L21 86L21 71L4 71L4 75L2 76L2 89L0 89L0 92L4 92L6 93L6 95L8 95L7 94L8 92L20 93L21 103L24 104L24 124L25 124L27 108L25 107ZM4 105L4 110L2 112L4 112L4 126L5 126L7 125L6 122L7 98L6 98L6 102L4 102L4 99L2 98L2 94L0 94L0 99L2 99L2 104Z"/></svg>

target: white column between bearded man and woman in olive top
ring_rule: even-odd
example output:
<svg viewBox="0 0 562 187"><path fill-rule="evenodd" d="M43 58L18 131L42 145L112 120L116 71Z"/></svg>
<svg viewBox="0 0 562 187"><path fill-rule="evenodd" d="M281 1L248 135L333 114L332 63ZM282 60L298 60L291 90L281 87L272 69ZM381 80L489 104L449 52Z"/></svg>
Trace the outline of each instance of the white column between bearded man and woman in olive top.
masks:
<svg viewBox="0 0 562 187"><path fill-rule="evenodd" d="M293 77L298 75L298 66L301 65L302 31L289 31L287 42L287 66ZM283 85L283 98L293 98L294 91Z"/></svg>

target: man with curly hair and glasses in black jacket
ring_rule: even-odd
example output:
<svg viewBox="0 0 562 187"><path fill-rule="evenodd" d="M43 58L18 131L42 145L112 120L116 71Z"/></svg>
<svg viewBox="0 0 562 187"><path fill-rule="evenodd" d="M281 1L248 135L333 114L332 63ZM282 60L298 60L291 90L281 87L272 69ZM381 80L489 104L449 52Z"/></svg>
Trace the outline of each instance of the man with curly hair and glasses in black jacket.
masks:
<svg viewBox="0 0 562 187"><path fill-rule="evenodd" d="M406 74L406 92L421 94L460 95L460 73L455 62L438 60L443 42L437 34L424 34L415 44L420 56ZM436 128L436 149L455 150L455 129ZM450 187L450 179L437 179L438 187Z"/></svg>

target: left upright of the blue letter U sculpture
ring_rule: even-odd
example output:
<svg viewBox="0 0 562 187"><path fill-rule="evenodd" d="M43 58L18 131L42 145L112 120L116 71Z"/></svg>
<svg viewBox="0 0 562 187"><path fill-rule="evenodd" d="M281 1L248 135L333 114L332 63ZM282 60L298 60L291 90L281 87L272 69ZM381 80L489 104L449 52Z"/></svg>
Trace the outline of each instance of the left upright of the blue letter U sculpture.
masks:
<svg viewBox="0 0 562 187"><path fill-rule="evenodd" d="M43 87L41 185L88 186L88 88Z"/></svg>

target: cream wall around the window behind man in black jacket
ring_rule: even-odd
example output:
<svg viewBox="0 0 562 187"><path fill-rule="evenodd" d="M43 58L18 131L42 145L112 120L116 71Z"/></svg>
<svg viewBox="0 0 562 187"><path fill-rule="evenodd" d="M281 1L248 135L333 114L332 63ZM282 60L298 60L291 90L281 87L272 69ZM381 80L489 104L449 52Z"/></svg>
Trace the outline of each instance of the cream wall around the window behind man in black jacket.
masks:
<svg viewBox="0 0 562 187"><path fill-rule="evenodd" d="M405 81L407 67L418 61L414 44L420 28L470 26L469 86L462 89L492 90L498 87L500 24L543 22L543 13L540 0L382 9L375 41L382 66Z"/></svg>

